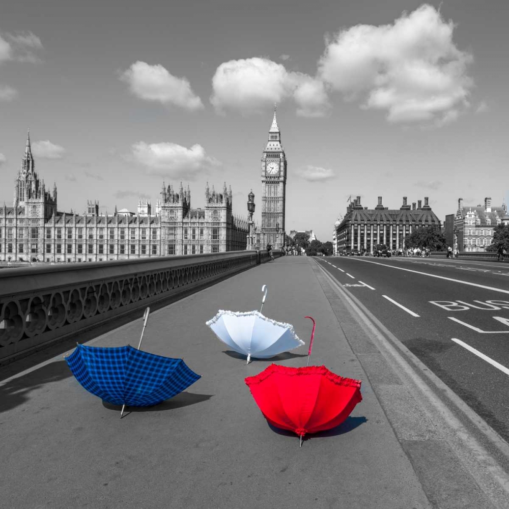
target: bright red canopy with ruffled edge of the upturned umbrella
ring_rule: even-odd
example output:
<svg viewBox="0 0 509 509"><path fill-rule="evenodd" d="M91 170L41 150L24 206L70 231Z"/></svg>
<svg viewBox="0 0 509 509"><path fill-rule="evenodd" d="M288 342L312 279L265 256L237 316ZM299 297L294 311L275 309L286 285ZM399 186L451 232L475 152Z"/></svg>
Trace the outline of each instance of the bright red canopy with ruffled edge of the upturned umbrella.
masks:
<svg viewBox="0 0 509 509"><path fill-rule="evenodd" d="M335 428L362 401L360 380L340 377L325 366L271 364L245 383L272 426L301 437Z"/></svg>

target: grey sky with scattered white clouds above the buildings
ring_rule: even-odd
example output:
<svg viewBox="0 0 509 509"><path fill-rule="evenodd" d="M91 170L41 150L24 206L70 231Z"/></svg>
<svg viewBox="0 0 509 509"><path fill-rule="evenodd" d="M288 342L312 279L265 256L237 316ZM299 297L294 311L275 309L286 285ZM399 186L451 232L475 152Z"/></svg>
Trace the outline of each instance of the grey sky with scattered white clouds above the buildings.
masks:
<svg viewBox="0 0 509 509"><path fill-rule="evenodd" d="M486 0L6 0L0 201L30 128L36 171L77 213L155 206L163 182L231 185L261 223L274 103L286 230L332 239L349 196L429 197L441 221L509 202L509 3Z"/></svg>

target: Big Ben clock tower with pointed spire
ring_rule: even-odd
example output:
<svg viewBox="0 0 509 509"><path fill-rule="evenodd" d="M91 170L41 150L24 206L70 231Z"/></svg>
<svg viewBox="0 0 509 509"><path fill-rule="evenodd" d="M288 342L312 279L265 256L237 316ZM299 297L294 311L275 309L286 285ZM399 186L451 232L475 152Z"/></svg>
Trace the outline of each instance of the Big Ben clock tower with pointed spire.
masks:
<svg viewBox="0 0 509 509"><path fill-rule="evenodd" d="M285 199L287 160L281 147L276 108L269 130L269 140L262 155L262 245L280 249L285 242Z"/></svg>

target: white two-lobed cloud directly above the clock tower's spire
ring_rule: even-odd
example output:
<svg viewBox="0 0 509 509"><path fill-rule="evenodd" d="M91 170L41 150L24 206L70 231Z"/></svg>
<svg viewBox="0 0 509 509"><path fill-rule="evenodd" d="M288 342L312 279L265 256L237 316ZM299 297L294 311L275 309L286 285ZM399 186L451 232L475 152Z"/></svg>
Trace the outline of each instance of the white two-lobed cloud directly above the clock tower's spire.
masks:
<svg viewBox="0 0 509 509"><path fill-rule="evenodd" d="M297 102L297 114L305 117L321 117L330 107L319 80L259 57L223 62L212 88L210 102L219 114L234 109L249 115L288 98Z"/></svg>

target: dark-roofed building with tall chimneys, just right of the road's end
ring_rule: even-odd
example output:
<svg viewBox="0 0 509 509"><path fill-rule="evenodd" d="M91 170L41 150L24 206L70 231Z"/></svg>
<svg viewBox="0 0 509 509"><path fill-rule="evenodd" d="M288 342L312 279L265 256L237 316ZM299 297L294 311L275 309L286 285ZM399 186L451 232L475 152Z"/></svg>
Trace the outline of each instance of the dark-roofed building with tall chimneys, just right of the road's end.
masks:
<svg viewBox="0 0 509 509"><path fill-rule="evenodd" d="M440 220L431 210L428 196L422 201L403 204L399 209L389 209L382 205L382 196L378 196L378 204L374 209L363 207L360 196L347 207L345 217L335 225L336 252L369 251L373 252L377 244L386 244L389 249L405 248L405 237L416 228L437 226Z"/></svg>

